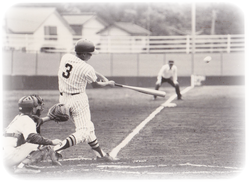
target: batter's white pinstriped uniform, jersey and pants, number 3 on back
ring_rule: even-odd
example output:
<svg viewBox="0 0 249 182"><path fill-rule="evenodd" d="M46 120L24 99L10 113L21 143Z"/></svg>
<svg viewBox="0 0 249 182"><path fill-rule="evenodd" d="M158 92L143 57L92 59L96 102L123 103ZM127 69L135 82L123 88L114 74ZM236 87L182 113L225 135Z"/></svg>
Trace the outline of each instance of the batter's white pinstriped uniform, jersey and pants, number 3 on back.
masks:
<svg viewBox="0 0 249 182"><path fill-rule="evenodd" d="M60 103L70 108L75 124L74 145L84 141L93 141L96 137L91 121L86 86L87 83L97 80L94 68L75 55L65 54L59 66L58 79L61 93Z"/></svg>

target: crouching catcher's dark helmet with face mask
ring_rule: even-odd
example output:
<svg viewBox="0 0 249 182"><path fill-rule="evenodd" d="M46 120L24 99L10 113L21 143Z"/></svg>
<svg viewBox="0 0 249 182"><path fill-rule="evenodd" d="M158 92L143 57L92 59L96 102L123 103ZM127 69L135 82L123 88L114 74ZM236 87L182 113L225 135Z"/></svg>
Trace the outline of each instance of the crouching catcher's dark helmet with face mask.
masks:
<svg viewBox="0 0 249 182"><path fill-rule="evenodd" d="M40 116L43 110L43 99L39 95L24 96L18 101L18 108L21 113L31 112Z"/></svg>

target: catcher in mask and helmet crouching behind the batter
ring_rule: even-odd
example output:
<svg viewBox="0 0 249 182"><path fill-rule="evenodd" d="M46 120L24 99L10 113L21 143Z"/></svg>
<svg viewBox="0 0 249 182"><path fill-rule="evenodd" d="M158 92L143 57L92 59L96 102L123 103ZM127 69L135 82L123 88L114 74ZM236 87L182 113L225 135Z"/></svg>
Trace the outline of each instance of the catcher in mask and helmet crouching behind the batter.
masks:
<svg viewBox="0 0 249 182"><path fill-rule="evenodd" d="M39 117L43 105L43 99L38 95L24 96L19 100L20 114L3 132L4 173L39 173L38 167L32 164L48 156L52 162L60 165L50 145L57 145L61 140L46 139L37 132L42 124Z"/></svg>

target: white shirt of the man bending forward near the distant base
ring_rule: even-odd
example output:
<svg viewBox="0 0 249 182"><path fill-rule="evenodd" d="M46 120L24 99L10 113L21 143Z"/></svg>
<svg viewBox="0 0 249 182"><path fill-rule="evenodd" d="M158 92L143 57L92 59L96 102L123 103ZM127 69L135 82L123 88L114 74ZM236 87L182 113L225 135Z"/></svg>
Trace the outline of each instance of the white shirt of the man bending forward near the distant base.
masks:
<svg viewBox="0 0 249 182"><path fill-rule="evenodd" d="M161 80L162 77L166 79L172 77L173 82L176 82L177 81L177 67L173 65L170 69L168 64L163 65L158 73L157 79Z"/></svg>

